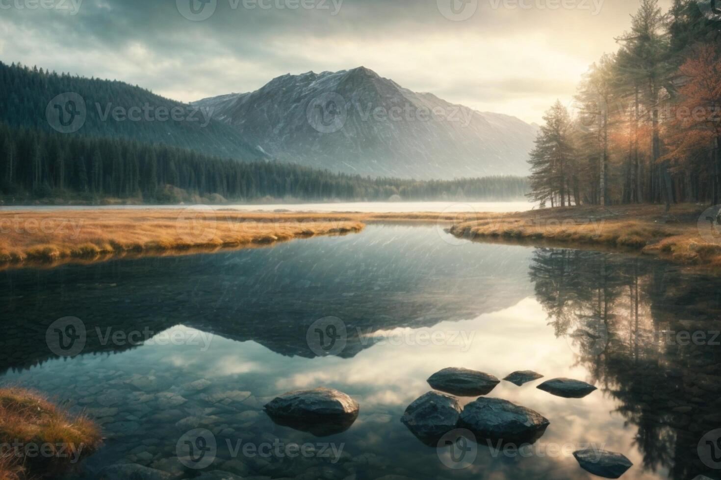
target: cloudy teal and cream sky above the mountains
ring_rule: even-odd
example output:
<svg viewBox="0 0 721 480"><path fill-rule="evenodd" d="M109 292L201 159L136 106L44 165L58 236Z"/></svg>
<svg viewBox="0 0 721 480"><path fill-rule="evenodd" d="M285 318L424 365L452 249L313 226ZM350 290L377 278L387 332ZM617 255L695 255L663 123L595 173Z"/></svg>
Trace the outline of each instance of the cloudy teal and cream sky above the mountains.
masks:
<svg viewBox="0 0 721 480"><path fill-rule="evenodd" d="M667 9L671 0L660 0ZM365 66L540 123L639 0L0 0L0 60L193 101Z"/></svg>

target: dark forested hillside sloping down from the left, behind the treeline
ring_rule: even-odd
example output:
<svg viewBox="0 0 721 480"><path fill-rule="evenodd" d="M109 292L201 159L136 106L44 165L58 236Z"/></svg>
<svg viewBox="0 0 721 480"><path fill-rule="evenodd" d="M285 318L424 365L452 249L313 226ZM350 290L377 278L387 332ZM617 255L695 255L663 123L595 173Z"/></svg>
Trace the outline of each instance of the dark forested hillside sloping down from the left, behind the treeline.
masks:
<svg viewBox="0 0 721 480"><path fill-rule="evenodd" d="M267 158L208 112L128 83L0 62L0 91L0 122L12 127L129 138L236 160Z"/></svg>

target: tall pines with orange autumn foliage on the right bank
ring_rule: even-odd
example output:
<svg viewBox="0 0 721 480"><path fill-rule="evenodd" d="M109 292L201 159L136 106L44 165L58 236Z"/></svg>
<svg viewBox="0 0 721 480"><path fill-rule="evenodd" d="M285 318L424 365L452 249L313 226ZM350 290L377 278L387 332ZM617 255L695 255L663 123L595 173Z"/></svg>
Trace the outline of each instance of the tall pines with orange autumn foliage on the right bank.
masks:
<svg viewBox="0 0 721 480"><path fill-rule="evenodd" d="M721 12L709 0L641 0L619 49L557 101L531 152L531 199L721 203Z"/></svg>

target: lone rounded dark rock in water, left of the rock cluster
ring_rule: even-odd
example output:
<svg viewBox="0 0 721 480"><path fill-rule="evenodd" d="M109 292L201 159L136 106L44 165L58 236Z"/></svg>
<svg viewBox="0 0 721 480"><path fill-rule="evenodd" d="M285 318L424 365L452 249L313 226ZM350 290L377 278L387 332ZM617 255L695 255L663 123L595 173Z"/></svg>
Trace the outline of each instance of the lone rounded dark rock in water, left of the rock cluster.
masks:
<svg viewBox="0 0 721 480"><path fill-rule="evenodd" d="M265 412L278 425L319 437L348 430L360 409L342 391L324 388L289 391L265 405Z"/></svg>

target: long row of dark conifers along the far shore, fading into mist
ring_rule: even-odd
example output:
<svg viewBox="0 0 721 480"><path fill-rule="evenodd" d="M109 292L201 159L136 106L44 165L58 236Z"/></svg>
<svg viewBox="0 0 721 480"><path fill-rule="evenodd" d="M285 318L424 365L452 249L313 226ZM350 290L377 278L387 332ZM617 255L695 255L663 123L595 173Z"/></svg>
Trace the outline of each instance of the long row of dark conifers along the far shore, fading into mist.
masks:
<svg viewBox="0 0 721 480"><path fill-rule="evenodd" d="M403 200L503 201L523 199L528 179L368 178L275 161L240 162L122 137L63 135L0 123L0 191L9 203L31 198L174 203L188 195L207 199L213 194L239 201L384 201L395 195Z"/></svg>

